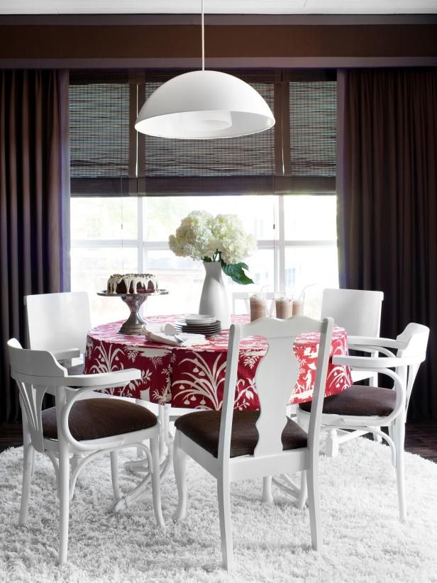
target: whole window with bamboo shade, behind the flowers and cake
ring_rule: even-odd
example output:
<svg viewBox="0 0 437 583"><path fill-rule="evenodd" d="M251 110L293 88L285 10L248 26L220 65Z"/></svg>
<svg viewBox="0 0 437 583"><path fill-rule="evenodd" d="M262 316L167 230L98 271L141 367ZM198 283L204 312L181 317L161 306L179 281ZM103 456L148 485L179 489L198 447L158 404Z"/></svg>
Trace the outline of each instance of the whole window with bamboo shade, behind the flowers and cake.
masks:
<svg viewBox="0 0 437 583"><path fill-rule="evenodd" d="M94 294L114 272L151 272L169 289L146 313L197 311L203 267L167 245L197 209L243 218L258 240L253 288L310 286L316 315L317 289L338 285L335 72L233 73L265 97L274 128L230 140L145 137L133 128L138 107L177 72L70 74L72 289L91 292L96 322L126 317L119 299Z"/></svg>

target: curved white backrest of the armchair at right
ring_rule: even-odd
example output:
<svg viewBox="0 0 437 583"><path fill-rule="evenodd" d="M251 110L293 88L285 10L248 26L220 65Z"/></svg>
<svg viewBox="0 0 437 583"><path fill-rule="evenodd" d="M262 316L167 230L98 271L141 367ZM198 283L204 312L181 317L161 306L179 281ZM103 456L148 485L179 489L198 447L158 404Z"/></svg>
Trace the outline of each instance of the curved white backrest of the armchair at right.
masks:
<svg viewBox="0 0 437 583"><path fill-rule="evenodd" d="M416 375L419 370L421 362L426 358L426 347L428 346L429 328L428 326L423 326L423 324L416 324L415 322L409 323L404 331L400 333L396 340L404 346L399 348L397 351L397 356L417 356L419 357L419 362L402 370L396 370L399 376L404 378L405 382L405 393L406 393L406 409L408 409L409 399L411 396L411 391L413 389L414 381L416 380ZM406 375L405 375L406 371Z"/></svg>

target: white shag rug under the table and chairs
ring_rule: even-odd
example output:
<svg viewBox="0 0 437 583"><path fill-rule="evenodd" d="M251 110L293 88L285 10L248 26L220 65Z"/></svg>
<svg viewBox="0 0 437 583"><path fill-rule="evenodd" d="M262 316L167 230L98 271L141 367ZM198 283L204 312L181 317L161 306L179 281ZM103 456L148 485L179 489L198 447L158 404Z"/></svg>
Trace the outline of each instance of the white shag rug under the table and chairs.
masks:
<svg viewBox="0 0 437 583"><path fill-rule="evenodd" d="M157 528L152 496L111 513L109 457L88 466L70 507L68 562L57 566L57 499L50 460L37 455L29 518L18 526L22 448L0 455L1 582L437 582L437 465L406 454L408 519L398 519L389 448L366 439L321 457L324 547L311 550L308 511L274 489L260 501L261 480L233 484L236 570L221 568L216 482L187 467L187 518L172 523L172 470L162 482L166 528ZM134 450L120 455L133 459ZM128 491L138 477L121 471Z"/></svg>

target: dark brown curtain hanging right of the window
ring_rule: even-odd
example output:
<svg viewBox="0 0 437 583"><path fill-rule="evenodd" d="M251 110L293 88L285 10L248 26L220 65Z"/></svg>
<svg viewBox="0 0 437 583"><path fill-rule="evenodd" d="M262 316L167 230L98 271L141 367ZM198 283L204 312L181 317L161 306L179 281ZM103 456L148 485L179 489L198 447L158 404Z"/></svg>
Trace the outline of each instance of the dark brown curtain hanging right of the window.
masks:
<svg viewBox="0 0 437 583"><path fill-rule="evenodd" d="M437 418L437 69L350 70L338 213L341 285L380 289L381 335L431 328L410 419Z"/></svg>

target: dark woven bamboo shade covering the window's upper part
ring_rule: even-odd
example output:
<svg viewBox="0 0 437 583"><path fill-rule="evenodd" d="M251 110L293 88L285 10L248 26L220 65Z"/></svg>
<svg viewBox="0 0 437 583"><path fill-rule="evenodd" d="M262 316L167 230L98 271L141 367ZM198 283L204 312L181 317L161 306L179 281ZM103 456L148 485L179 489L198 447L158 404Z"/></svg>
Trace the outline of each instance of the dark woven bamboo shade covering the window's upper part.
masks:
<svg viewBox="0 0 437 583"><path fill-rule="evenodd" d="M332 74L226 70L252 84L272 109L275 126L258 134L169 140L135 132L145 99L181 72L70 72L72 196L334 191Z"/></svg>

